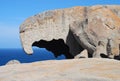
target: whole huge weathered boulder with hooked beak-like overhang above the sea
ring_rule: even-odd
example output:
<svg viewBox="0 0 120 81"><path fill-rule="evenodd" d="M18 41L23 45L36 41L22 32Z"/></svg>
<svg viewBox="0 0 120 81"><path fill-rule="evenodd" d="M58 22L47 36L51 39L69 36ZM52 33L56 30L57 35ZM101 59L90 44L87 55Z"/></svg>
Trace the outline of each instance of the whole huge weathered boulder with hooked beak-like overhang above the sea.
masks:
<svg viewBox="0 0 120 81"><path fill-rule="evenodd" d="M68 48L65 50L66 56L70 56L68 58L76 56L83 49L87 49L89 56L98 56L101 53L108 54L107 45L110 39L111 55L118 55L120 6L78 6L46 11L29 17L21 24L20 38L27 54L33 53L32 46L41 47L41 40L63 40L65 47L59 43L57 45L60 48ZM101 45L98 44L100 41ZM54 48L54 45L42 47L49 49ZM56 51L55 48L53 50Z"/></svg>

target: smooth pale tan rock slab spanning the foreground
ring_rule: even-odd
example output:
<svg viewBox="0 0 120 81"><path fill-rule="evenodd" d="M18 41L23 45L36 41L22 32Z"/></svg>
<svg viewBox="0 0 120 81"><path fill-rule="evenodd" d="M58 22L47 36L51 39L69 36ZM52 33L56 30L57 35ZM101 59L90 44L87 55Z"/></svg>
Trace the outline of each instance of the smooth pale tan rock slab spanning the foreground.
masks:
<svg viewBox="0 0 120 81"><path fill-rule="evenodd" d="M0 67L0 81L120 81L120 61L74 59Z"/></svg>

